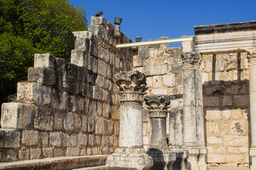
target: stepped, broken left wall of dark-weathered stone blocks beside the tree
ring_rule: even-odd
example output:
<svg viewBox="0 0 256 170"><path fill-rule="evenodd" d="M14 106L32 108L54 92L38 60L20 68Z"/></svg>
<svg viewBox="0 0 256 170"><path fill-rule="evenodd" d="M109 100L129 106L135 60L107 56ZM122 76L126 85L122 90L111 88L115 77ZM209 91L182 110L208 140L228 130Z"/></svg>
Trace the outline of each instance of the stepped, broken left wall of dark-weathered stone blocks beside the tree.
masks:
<svg viewBox="0 0 256 170"><path fill-rule="evenodd" d="M119 96L113 75L132 69L131 42L102 17L75 32L71 63L35 55L17 100L1 109L0 160L111 154L118 147Z"/></svg>

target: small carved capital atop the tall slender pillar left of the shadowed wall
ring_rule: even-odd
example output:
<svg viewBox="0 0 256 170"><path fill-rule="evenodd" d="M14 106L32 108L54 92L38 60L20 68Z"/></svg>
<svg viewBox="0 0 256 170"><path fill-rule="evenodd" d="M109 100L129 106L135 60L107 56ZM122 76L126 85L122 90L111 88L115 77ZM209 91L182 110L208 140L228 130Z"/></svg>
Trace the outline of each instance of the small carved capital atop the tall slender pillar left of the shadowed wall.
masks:
<svg viewBox="0 0 256 170"><path fill-rule="evenodd" d="M202 58L199 52L182 52L183 69L199 69Z"/></svg>

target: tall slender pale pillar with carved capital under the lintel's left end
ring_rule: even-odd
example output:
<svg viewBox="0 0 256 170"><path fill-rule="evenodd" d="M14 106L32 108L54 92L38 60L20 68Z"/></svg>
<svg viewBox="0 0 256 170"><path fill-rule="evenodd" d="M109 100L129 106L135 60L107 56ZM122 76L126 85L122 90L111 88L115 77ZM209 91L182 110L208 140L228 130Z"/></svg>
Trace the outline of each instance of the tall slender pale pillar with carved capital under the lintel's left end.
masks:
<svg viewBox="0 0 256 170"><path fill-rule="evenodd" d="M207 169L206 143L203 125L203 94L201 84L201 56L197 52L183 52L183 140L188 149L188 169Z"/></svg>

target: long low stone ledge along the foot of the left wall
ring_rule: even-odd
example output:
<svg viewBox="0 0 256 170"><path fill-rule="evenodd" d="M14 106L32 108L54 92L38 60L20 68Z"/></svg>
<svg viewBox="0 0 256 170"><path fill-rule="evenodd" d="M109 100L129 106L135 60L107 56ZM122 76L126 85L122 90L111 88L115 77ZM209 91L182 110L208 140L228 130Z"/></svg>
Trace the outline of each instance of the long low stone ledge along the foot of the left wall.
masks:
<svg viewBox="0 0 256 170"><path fill-rule="evenodd" d="M77 157L50 157L44 159L32 159L19 162L0 163L0 170L6 169L78 169L88 167L94 169L97 166L106 164L107 157L110 155L91 155ZM97 168L96 168L97 169Z"/></svg>

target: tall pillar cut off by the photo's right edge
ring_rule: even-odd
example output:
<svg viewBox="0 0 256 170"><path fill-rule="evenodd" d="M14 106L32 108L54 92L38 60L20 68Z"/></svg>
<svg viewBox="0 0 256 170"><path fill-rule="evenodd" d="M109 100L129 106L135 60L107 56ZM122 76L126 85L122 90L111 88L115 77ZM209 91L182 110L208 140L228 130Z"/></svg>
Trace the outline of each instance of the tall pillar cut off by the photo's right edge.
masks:
<svg viewBox="0 0 256 170"><path fill-rule="evenodd" d="M249 59L249 81L250 81L250 126L251 146L250 157L252 164L250 169L256 169L256 50L248 55Z"/></svg>

